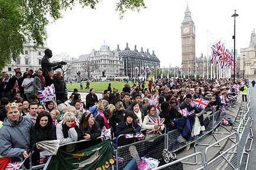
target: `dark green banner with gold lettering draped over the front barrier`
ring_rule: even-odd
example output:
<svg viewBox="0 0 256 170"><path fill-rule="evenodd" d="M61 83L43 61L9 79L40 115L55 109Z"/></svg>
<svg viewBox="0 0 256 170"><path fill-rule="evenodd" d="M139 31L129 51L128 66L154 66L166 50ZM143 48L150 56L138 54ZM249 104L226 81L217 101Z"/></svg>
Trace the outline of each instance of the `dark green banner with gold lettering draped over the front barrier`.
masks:
<svg viewBox="0 0 256 170"><path fill-rule="evenodd" d="M52 155L44 169L105 170L113 164L113 148L110 140L107 140L78 152L69 153L59 149L57 155Z"/></svg>

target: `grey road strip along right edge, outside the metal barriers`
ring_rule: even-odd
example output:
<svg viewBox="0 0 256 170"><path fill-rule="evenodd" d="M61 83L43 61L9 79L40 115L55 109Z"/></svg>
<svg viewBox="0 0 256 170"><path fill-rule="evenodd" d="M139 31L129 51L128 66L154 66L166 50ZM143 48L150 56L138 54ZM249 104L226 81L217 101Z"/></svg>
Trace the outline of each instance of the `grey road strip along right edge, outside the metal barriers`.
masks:
<svg viewBox="0 0 256 170"><path fill-rule="evenodd" d="M251 106L252 106L252 112L253 112L253 118L254 122L252 123L252 131L254 134L254 142L252 143L252 148L251 151L249 152L250 157L249 157L249 163L248 163L248 169L256 169L256 87L251 86ZM250 142L250 140L248 140Z"/></svg>

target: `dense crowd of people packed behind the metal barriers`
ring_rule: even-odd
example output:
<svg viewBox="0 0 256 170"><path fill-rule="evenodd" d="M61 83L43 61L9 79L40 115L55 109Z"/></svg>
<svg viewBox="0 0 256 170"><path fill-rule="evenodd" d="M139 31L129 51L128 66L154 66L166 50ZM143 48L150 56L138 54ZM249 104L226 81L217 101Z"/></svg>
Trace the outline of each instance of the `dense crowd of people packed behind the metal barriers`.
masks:
<svg viewBox="0 0 256 170"><path fill-rule="evenodd" d="M39 164L42 151L37 142L59 139L60 144L68 144L90 140L86 145L65 146L65 151L72 152L100 142L99 137L106 135L106 129L111 132L111 140L120 136L119 146L143 140L128 139L124 134L141 133L149 139L173 129L180 129L180 134L188 131L181 135L183 142L188 142L192 129L184 129L184 122L192 127L198 117L201 133L205 131L203 109L192 104L194 99L209 101L205 111L218 110L235 100L239 86L243 86L242 99L247 100L248 82L244 79L233 82L232 79L196 78L155 79L149 82L148 88L125 84L122 92L111 89L109 84L102 98L98 98L96 89L91 88L86 101L82 101L77 89L67 98L61 72L49 71L44 76L43 71L39 69L34 75L28 71L23 77L17 70L12 78L3 73L0 84L0 155L27 158L29 151L34 151L33 165ZM50 84L55 86L56 101L42 105L38 91ZM192 114L182 115L180 111L185 108ZM163 123L152 124L152 120L161 119Z"/></svg>

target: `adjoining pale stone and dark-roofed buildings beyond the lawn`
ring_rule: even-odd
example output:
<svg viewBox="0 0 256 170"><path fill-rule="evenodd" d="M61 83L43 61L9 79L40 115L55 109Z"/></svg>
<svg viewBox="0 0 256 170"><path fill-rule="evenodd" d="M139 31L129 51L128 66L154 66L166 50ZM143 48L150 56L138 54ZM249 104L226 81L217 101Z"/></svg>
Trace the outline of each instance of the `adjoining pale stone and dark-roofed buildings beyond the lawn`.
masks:
<svg viewBox="0 0 256 170"><path fill-rule="evenodd" d="M99 51L93 49L90 54L81 55L77 59L70 61L70 70L67 71L68 78L78 78L77 72L81 73L81 78L87 78L86 72L83 70L84 62L94 61L99 66L99 69L91 72L91 78L102 78L104 71L106 78L137 78L139 76L149 76L153 69L160 66L160 61L156 57L154 51L149 53L142 50L137 51L136 45L134 50L130 50L128 43L126 48L121 50L119 45L117 49L111 51L105 43L101 45Z"/></svg>

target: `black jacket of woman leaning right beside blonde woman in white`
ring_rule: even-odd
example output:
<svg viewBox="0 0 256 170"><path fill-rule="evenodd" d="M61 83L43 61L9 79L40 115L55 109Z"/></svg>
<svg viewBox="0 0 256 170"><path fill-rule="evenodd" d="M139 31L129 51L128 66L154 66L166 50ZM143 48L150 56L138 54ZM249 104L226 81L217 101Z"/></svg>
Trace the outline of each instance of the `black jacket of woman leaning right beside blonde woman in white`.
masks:
<svg viewBox="0 0 256 170"><path fill-rule="evenodd" d="M80 132L82 135L82 139L84 134L89 134L91 139L96 139L101 135L100 125L98 122L94 122L93 126L88 126L87 129L84 128L83 124L80 124Z"/></svg>

